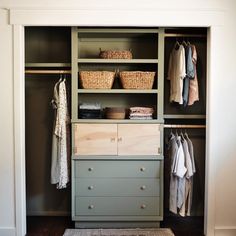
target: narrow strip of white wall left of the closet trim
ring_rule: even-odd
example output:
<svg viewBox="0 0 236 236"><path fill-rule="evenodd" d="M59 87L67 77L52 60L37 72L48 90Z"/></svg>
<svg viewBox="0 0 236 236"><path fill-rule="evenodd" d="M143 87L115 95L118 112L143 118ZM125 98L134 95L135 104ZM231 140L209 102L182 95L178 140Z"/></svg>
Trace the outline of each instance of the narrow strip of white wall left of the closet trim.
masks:
<svg viewBox="0 0 236 236"><path fill-rule="evenodd" d="M14 233L12 26L0 10L0 235ZM9 233L10 232L10 233ZM2 233L2 235L3 235Z"/></svg>

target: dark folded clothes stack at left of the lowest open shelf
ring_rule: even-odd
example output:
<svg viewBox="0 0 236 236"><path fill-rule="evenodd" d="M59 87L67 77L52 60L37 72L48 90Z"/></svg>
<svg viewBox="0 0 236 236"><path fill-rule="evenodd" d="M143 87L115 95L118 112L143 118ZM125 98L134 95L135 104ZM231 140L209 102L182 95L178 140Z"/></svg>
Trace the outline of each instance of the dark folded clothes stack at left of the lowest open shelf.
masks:
<svg viewBox="0 0 236 236"><path fill-rule="evenodd" d="M101 119L102 108L99 103L82 103L79 105L79 119Z"/></svg>

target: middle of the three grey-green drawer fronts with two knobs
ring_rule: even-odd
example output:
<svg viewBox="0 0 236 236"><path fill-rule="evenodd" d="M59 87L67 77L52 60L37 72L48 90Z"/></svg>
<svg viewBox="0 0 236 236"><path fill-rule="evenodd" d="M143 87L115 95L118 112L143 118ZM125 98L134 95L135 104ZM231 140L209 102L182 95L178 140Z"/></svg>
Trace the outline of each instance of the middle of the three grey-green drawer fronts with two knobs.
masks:
<svg viewBox="0 0 236 236"><path fill-rule="evenodd" d="M160 196L160 180L76 178L76 196Z"/></svg>

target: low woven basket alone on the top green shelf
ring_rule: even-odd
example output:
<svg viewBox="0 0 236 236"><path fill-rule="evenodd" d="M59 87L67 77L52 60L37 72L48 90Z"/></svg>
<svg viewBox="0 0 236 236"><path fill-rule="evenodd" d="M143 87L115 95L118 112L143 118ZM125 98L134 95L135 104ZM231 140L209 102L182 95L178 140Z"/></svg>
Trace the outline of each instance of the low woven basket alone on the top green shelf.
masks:
<svg viewBox="0 0 236 236"><path fill-rule="evenodd" d="M132 59L131 50L106 50L101 51L99 57L103 59Z"/></svg>

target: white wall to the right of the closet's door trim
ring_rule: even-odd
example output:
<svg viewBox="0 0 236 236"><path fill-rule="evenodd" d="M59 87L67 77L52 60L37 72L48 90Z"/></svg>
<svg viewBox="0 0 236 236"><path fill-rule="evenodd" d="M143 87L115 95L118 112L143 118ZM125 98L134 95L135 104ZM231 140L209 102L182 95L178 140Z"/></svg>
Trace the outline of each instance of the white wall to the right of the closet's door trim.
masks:
<svg viewBox="0 0 236 236"><path fill-rule="evenodd" d="M218 121L218 159L216 160L216 218L217 235L223 235L225 228L232 228L236 235L236 88L235 55L236 55L236 1L228 6L221 42L221 75L220 90L217 99Z"/></svg>

